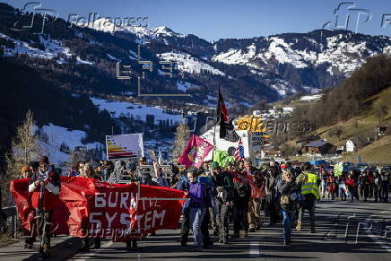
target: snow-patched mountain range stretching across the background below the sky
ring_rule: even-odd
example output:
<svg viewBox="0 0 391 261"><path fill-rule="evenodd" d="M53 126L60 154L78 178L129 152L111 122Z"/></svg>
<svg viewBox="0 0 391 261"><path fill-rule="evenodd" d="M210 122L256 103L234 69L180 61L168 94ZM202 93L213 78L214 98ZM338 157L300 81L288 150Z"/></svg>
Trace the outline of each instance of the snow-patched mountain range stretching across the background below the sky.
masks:
<svg viewBox="0 0 391 261"><path fill-rule="evenodd" d="M28 15L4 6L4 10L13 10L2 14L9 24ZM227 92L226 100L239 107L243 100L255 104L259 100L280 100L297 91L311 94L335 86L360 68L368 57L391 53L389 37L346 30L313 30L209 42L165 26L117 26L107 18L80 27L66 25L58 19L48 25L44 35L37 36L10 30L4 23L0 27L4 57L27 55L59 65L91 65L94 70L103 69L102 75L111 78L114 66L108 66L122 62L133 68L132 79L143 76L144 86L151 93L186 92L192 102L207 105L206 98L215 95L217 85L221 84ZM140 57L137 46L142 47ZM154 66L148 77L144 77L144 66L138 62L140 58L150 60ZM175 64L174 70L169 71L174 76L163 74L161 61ZM118 91L126 89L121 93L136 93L129 91L130 86L135 86L135 80L110 81L118 86ZM183 88L178 81L186 81L192 88Z"/></svg>

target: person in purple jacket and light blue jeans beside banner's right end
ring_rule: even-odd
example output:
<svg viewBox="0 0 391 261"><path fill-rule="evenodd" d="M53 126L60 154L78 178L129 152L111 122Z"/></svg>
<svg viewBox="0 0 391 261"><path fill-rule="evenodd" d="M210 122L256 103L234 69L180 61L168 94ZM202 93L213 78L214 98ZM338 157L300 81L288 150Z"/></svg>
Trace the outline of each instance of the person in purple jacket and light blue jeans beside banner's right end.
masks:
<svg viewBox="0 0 391 261"><path fill-rule="evenodd" d="M187 172L188 193L190 198L189 204L189 220L194 234L194 251L202 251L202 234L201 223L204 220L204 215L208 209L207 199L205 197L205 186L197 180L197 171L189 170Z"/></svg>

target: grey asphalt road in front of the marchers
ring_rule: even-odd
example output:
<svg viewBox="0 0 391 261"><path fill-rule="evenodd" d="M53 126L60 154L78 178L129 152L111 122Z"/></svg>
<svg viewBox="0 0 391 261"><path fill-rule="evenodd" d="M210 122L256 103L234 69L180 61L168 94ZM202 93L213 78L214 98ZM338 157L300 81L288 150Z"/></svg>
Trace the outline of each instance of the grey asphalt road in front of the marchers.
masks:
<svg viewBox="0 0 391 261"><path fill-rule="evenodd" d="M390 260L391 204L322 200L316 217L317 233L309 232L306 215L303 231L292 232L291 246L282 246L281 224L231 239L227 245L214 243L203 252L192 252L192 241L181 247L178 230L158 231L139 241L135 252L127 252L124 243L102 241L103 248L70 260Z"/></svg>

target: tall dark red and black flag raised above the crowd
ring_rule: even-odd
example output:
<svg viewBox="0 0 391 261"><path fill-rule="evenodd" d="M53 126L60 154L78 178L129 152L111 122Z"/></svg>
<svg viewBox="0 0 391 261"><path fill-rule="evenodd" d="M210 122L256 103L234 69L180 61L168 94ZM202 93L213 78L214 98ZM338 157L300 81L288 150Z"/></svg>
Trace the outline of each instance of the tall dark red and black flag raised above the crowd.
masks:
<svg viewBox="0 0 391 261"><path fill-rule="evenodd" d="M236 134L233 129L233 125L230 120L230 114L225 106L224 99L222 98L222 92L219 86L219 100L217 100L216 106L216 124L220 126L220 138L230 141L238 142L239 135Z"/></svg>

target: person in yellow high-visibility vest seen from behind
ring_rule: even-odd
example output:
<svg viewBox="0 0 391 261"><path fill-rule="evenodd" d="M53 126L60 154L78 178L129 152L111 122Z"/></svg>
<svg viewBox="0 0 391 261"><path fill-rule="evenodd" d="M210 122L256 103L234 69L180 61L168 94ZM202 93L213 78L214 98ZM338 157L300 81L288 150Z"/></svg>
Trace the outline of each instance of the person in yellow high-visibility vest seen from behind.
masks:
<svg viewBox="0 0 391 261"><path fill-rule="evenodd" d="M305 162L302 166L302 173L296 178L296 183L300 187L301 195L304 200L299 206L299 217L296 231L301 231L301 222L303 220L304 210L308 209L311 233L315 233L315 201L320 198L319 188L317 187L317 175L310 172L311 164Z"/></svg>

